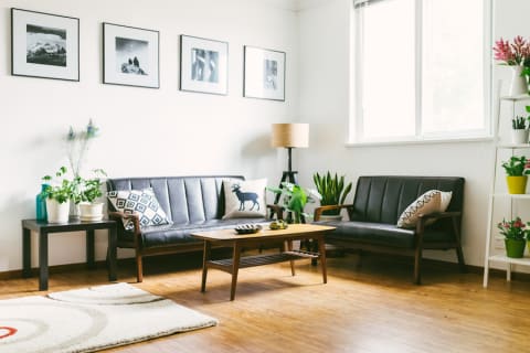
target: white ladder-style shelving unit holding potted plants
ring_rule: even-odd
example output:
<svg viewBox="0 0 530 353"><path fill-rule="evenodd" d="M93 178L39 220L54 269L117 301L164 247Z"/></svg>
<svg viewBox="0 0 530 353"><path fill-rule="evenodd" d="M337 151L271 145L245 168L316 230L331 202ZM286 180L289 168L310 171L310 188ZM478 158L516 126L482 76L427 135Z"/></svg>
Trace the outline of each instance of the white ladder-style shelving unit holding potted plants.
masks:
<svg viewBox="0 0 530 353"><path fill-rule="evenodd" d="M517 105L521 101L527 101L528 105L530 105L530 96L529 95L521 95L521 96L505 96L500 97L499 100L499 106L498 106L498 111L496 114L496 124L495 124L495 136L496 136L496 148L495 148L495 159L494 159L494 176L492 176L492 182L491 182L491 193L489 194L489 210L488 210L488 225L486 227L487 229L487 237L486 237L486 254L485 254L485 260L484 260L484 287L488 287L488 277L489 277L489 267L491 263L500 263L500 264L506 264L506 280L511 280L511 267L512 265L523 265L523 266L530 266L530 256L524 256L523 258L511 258L506 255L491 255L491 248L494 246L492 240L494 238L491 236L491 229L495 227L496 228L496 223L494 223L494 207L495 207L495 201L497 199L508 199L510 202L510 215L513 217L513 202L518 200L530 200L530 194L508 194L508 193L499 193L496 191L496 184L497 184L497 171L499 170L500 165L498 165L498 156L500 150L508 150L511 151L511 156L516 154L516 151L518 150L523 150L528 149L530 150L530 145L524 143L524 145L513 145L513 143L500 143L499 140L499 124L500 124L500 111L501 111L501 105L502 103L511 103L511 113L512 117L516 116L516 108ZM500 238L500 236L499 236Z"/></svg>

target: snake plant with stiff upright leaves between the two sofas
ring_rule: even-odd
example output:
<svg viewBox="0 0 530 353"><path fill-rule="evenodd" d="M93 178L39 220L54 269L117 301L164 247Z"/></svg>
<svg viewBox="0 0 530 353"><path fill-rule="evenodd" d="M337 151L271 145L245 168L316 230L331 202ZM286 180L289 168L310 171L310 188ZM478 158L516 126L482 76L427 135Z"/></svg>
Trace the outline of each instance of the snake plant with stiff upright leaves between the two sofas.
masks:
<svg viewBox="0 0 530 353"><path fill-rule="evenodd" d="M312 175L312 181L317 186L318 193L322 196L320 199L320 205L341 205L344 203L346 196L351 192L352 183L344 183L344 175L340 178L335 173L328 171L326 174L320 175L318 172ZM338 218L340 220L340 208L327 210L322 212L321 218Z"/></svg>

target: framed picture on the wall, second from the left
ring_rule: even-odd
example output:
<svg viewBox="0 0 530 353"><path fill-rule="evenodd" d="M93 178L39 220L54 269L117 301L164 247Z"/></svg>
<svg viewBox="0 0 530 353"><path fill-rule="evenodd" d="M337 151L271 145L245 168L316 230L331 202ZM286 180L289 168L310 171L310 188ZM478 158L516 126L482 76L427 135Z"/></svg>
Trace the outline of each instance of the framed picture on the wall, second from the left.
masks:
<svg viewBox="0 0 530 353"><path fill-rule="evenodd" d="M103 23L103 83L160 87L158 31Z"/></svg>

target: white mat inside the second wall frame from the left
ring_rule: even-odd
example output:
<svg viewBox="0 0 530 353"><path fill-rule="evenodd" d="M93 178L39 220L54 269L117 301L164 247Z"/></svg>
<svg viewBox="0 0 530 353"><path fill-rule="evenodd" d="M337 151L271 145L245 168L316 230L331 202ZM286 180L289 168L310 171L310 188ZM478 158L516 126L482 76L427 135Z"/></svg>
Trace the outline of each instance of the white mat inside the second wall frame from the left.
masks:
<svg viewBox="0 0 530 353"><path fill-rule="evenodd" d="M130 26L123 26L119 24L103 23L104 31L104 65L105 74L103 83L117 84L128 86L144 86L158 88L159 87L159 41L158 32L151 30L144 30ZM136 41L148 42L147 67L149 71L147 75L125 74L118 72L116 67L116 38L125 38Z"/></svg>

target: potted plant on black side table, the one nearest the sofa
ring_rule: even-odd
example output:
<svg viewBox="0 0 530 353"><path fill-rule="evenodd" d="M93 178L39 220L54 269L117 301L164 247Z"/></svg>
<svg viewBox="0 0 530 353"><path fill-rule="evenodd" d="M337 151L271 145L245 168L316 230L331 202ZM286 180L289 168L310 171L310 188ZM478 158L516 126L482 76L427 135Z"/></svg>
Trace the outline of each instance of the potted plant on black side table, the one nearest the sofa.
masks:
<svg viewBox="0 0 530 353"><path fill-rule="evenodd" d="M103 218L103 202L96 202L103 195L102 178L107 174L103 169L95 169L94 178L83 179L77 176L77 193L75 201L80 205L81 221L100 221Z"/></svg>

